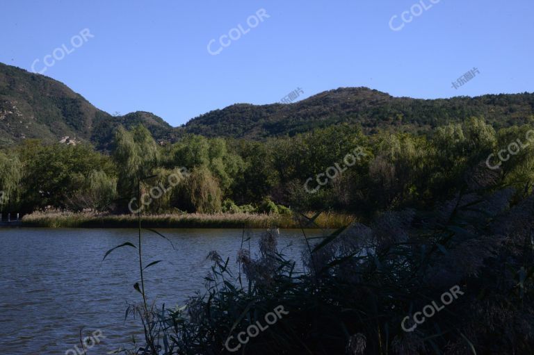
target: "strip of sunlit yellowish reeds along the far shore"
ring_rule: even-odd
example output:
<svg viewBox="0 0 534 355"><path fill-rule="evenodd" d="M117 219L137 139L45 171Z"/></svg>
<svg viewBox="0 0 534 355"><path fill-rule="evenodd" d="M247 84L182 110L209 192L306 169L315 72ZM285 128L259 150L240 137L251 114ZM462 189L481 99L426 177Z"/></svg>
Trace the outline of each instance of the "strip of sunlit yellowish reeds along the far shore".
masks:
<svg viewBox="0 0 534 355"><path fill-rule="evenodd" d="M310 213L310 216L312 213ZM321 213L316 222L322 228L339 228L353 222L354 216ZM158 228L300 228L293 215L216 213L161 214L141 216L143 227ZM136 228L136 215L106 215L70 211L34 212L22 218L22 226L49 228ZM313 226L307 226L312 228Z"/></svg>

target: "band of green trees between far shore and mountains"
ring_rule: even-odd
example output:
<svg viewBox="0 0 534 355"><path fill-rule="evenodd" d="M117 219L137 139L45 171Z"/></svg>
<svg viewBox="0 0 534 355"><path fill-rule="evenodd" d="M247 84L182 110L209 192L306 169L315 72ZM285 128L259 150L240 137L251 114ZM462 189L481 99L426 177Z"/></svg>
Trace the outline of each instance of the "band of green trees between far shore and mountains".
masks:
<svg viewBox="0 0 534 355"><path fill-rule="evenodd" d="M88 145L25 140L0 155L0 190L7 197L2 208L124 212L137 196L140 179L144 194L154 186L165 188L163 197L144 208L153 213L277 213L285 206L371 217L390 208L426 208L453 196L461 190L464 174L516 140L522 140L524 147L509 154L496 172L503 183L515 188L526 184L530 191L534 181L534 148L526 140L530 128L495 131L483 119L471 118L426 135L364 135L343 124L265 142L185 135L173 145L159 145L147 129L136 126L116 131L111 156ZM362 156L353 165L343 163L355 149ZM489 165L496 164L495 159ZM340 170L334 178L318 185L321 179L316 176L331 174L336 166ZM175 184L170 185L171 180Z"/></svg>

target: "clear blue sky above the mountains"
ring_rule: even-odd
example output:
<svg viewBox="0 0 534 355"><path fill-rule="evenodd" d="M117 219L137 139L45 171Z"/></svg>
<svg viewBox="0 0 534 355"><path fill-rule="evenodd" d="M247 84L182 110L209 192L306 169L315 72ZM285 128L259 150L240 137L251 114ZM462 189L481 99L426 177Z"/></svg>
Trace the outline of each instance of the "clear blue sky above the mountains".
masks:
<svg viewBox="0 0 534 355"><path fill-rule="evenodd" d="M428 99L534 91L533 0L417 3L3 0L0 62L46 69L108 113L145 110L173 126L296 88L298 99L347 86ZM240 24L246 33L231 31ZM85 28L92 37L74 38ZM54 59L63 44L70 53Z"/></svg>

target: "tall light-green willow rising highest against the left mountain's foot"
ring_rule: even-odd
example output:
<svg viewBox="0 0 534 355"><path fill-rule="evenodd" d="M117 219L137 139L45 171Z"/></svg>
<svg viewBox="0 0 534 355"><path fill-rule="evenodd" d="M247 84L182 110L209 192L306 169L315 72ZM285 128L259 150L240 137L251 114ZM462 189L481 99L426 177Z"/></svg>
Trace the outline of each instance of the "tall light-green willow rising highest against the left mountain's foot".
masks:
<svg viewBox="0 0 534 355"><path fill-rule="evenodd" d="M138 181L152 174L160 159L159 147L144 126L127 131L122 126L115 133L113 158L117 163L121 197L137 195Z"/></svg>

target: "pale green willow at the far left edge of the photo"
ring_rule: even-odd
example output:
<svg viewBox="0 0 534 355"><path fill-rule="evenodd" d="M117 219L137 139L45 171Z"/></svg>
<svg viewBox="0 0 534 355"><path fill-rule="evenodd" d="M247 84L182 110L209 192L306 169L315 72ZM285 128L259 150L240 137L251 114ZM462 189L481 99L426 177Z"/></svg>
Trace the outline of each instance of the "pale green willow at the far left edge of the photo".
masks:
<svg viewBox="0 0 534 355"><path fill-rule="evenodd" d="M0 210L17 204L21 178L22 163L19 157L0 151Z"/></svg>

